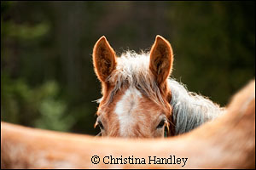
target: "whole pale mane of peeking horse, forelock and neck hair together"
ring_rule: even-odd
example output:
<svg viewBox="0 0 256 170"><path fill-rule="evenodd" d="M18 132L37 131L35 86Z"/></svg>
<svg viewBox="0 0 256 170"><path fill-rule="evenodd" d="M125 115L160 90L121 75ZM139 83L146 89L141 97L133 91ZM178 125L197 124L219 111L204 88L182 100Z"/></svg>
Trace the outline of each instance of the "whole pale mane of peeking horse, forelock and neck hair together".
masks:
<svg viewBox="0 0 256 170"><path fill-rule="evenodd" d="M106 102L109 104L113 96L123 86L137 88L142 94L152 99L156 104L166 107L160 94L160 88L149 71L149 54L137 54L134 51L126 51L117 57L117 66L108 77L108 82L114 88ZM172 118L175 125L175 134L186 133L204 122L216 118L223 109L199 94L191 93L182 83L172 78L167 79L167 85L171 89ZM101 99L98 99L100 102ZM106 105L105 104L105 105Z"/></svg>

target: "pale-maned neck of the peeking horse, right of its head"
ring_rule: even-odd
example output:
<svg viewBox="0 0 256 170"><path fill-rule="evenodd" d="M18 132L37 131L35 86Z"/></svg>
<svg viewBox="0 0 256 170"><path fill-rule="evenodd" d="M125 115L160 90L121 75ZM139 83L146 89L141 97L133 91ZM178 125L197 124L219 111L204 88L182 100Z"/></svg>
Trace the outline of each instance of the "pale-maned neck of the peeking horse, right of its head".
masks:
<svg viewBox="0 0 256 170"><path fill-rule="evenodd" d="M204 122L218 117L223 108L210 99L189 92L181 83L169 79L168 86L172 92L172 121L175 135L189 132Z"/></svg>

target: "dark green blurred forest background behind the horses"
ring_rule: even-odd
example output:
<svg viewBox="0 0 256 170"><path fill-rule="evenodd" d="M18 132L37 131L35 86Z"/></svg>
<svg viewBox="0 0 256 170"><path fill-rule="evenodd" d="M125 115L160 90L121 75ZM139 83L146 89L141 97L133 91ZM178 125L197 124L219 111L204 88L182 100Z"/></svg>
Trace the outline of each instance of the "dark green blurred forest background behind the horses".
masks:
<svg viewBox="0 0 256 170"><path fill-rule="evenodd" d="M3 2L1 120L96 134L92 48L174 51L172 77L226 105L255 77L255 2Z"/></svg>

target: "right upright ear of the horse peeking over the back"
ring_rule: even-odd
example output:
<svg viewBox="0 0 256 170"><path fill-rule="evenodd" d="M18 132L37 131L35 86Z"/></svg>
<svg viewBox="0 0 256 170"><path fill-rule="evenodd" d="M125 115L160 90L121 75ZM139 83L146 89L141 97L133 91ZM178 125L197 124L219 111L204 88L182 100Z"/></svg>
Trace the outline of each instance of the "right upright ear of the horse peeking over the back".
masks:
<svg viewBox="0 0 256 170"><path fill-rule="evenodd" d="M165 38L156 36L150 51L149 70L153 73L159 85L165 82L171 74L172 61L171 44Z"/></svg>

